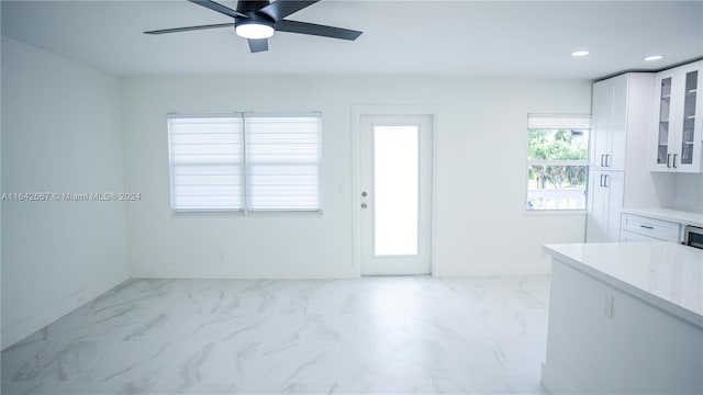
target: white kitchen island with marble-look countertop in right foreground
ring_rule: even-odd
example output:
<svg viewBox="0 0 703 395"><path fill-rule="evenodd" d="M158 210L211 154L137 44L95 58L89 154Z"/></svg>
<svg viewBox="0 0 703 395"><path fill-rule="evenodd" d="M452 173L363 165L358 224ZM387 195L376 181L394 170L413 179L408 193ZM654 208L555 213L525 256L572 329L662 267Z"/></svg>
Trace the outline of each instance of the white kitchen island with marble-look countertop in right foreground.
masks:
<svg viewBox="0 0 703 395"><path fill-rule="evenodd" d="M673 242L548 245L554 394L703 394L703 250Z"/></svg>

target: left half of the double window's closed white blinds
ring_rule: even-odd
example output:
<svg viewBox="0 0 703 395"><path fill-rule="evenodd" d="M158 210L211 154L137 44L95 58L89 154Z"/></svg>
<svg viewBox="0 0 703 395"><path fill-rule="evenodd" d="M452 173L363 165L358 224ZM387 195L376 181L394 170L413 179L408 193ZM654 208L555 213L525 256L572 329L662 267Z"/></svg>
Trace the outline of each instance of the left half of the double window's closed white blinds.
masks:
<svg viewBox="0 0 703 395"><path fill-rule="evenodd" d="M239 116L169 116L171 208L242 211Z"/></svg>

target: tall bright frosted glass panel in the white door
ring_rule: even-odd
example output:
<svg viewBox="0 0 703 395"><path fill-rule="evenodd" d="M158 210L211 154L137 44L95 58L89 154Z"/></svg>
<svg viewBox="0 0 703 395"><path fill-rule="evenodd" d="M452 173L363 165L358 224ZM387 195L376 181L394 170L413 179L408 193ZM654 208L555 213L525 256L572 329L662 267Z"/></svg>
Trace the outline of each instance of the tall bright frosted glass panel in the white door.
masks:
<svg viewBox="0 0 703 395"><path fill-rule="evenodd" d="M417 255L419 127L373 126L373 253Z"/></svg>

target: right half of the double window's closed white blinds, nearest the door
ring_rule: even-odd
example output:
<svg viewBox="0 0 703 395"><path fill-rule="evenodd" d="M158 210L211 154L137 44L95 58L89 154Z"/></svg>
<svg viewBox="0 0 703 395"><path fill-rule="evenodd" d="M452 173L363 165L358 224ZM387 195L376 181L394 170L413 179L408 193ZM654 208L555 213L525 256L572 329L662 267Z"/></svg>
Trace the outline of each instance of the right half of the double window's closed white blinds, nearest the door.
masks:
<svg viewBox="0 0 703 395"><path fill-rule="evenodd" d="M248 210L320 211L320 115L244 120Z"/></svg>

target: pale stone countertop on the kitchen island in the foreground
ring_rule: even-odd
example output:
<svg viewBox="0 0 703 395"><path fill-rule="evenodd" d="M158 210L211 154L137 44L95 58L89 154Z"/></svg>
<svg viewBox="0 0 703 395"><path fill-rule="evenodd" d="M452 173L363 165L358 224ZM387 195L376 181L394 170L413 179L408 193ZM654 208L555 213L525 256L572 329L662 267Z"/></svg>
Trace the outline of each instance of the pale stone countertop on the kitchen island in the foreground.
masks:
<svg viewBox="0 0 703 395"><path fill-rule="evenodd" d="M703 250L674 242L545 245L555 260L703 328Z"/></svg>

